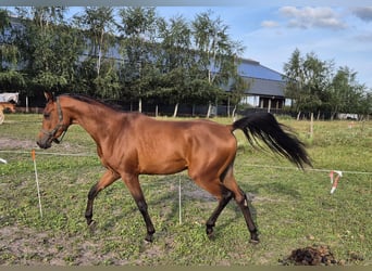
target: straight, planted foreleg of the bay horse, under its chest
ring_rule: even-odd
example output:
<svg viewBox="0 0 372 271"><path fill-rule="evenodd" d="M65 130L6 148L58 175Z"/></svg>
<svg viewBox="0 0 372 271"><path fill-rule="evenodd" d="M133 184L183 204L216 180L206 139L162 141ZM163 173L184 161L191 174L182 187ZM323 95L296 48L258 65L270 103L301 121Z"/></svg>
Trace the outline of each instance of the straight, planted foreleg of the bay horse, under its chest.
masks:
<svg viewBox="0 0 372 271"><path fill-rule="evenodd" d="M148 212L147 203L145 201L142 190L139 185L138 176L125 175L125 176L122 176L122 179L124 180L126 186L128 188L133 198L135 199L137 204L137 207L140 214L144 217L146 229L147 229L147 235L145 240L147 242L152 242L152 235L156 232L156 230Z"/></svg>

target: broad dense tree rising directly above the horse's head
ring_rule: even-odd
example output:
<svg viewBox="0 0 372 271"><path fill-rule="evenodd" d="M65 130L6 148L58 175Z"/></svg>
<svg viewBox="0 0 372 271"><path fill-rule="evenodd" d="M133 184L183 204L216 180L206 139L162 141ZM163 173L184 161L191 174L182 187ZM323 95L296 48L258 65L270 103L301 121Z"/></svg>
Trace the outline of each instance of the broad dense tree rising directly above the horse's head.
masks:
<svg viewBox="0 0 372 271"><path fill-rule="evenodd" d="M61 91L73 85L82 42L64 22L65 12L59 7L17 8L23 28L16 35L16 46L23 72L37 91Z"/></svg>

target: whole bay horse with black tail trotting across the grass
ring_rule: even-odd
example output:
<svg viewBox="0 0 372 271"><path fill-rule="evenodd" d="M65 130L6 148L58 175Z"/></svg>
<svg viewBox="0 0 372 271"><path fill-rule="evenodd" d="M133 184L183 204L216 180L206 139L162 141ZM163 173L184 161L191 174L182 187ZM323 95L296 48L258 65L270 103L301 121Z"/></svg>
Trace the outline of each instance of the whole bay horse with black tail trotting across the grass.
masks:
<svg viewBox="0 0 372 271"><path fill-rule="evenodd" d="M97 144L97 153L107 168L101 179L88 193L85 218L94 224L95 197L104 188L122 179L144 217L147 235L152 242L156 232L141 191L139 175L172 175L188 170L199 186L219 201L206 222L208 236L224 207L234 198L243 211L250 242L258 243L258 230L252 220L247 196L238 186L233 165L237 141L233 131L240 129L250 143L262 140L274 153L288 158L299 168L311 166L303 144L284 129L269 113L256 113L232 125L211 120L157 120L140 113L124 113L92 98L45 93L47 104L37 144L48 149L59 143L71 125L82 126Z"/></svg>

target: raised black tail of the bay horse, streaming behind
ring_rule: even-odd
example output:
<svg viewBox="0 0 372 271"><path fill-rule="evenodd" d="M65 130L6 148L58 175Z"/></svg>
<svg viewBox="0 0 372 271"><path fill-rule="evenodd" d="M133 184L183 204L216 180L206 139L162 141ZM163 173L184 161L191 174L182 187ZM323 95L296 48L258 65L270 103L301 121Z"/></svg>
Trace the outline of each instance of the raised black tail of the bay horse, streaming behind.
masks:
<svg viewBox="0 0 372 271"><path fill-rule="evenodd" d="M270 113L255 113L240 118L233 124L233 131L243 130L250 144L261 139L274 153L278 153L303 169L311 166L305 145L288 130L288 127L276 121ZM286 131L285 131L286 130Z"/></svg>

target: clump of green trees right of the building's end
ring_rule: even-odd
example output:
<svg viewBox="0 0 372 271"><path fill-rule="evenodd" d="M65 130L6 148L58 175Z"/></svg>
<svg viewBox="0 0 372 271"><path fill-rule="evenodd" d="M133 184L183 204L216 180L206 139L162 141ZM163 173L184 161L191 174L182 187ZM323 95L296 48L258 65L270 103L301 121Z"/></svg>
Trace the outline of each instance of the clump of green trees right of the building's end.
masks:
<svg viewBox="0 0 372 271"><path fill-rule="evenodd" d="M284 64L284 73L285 93L294 100L296 112L330 112L331 118L337 113L370 112L367 88L347 66L334 74L333 62L321 61L314 53L303 57L296 49Z"/></svg>

